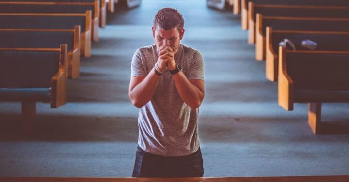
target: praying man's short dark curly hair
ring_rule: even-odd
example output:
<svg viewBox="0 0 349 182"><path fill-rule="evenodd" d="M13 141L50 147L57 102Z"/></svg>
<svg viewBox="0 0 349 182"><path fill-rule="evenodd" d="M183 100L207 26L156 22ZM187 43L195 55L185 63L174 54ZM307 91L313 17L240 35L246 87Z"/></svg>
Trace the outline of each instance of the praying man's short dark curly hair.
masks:
<svg viewBox="0 0 349 182"><path fill-rule="evenodd" d="M174 8L162 8L154 17L154 27L159 26L162 29L170 30L177 27L178 32L183 30L183 15Z"/></svg>

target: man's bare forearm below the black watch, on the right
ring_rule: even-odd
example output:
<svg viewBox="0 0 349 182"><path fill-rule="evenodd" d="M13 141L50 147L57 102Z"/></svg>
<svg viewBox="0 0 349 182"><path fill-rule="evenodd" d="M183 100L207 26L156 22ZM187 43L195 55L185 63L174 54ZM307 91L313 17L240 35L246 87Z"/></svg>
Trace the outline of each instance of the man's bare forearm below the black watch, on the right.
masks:
<svg viewBox="0 0 349 182"><path fill-rule="evenodd" d="M199 107L204 99L204 91L190 83L183 72L174 74L173 78L181 99L192 109Z"/></svg>

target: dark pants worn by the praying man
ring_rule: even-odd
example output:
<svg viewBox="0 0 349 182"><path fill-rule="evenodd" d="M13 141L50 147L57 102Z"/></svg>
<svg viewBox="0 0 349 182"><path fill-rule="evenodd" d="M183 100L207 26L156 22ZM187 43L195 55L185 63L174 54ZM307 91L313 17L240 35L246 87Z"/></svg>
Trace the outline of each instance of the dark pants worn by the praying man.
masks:
<svg viewBox="0 0 349 182"><path fill-rule="evenodd" d="M203 159L200 148L178 157L155 155L137 147L132 177L202 177Z"/></svg>

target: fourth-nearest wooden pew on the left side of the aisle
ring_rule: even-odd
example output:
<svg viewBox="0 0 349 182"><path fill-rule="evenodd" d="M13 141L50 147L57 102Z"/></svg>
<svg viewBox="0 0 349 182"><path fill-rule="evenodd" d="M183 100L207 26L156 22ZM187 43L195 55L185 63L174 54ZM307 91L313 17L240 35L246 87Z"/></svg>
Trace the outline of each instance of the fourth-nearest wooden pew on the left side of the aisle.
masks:
<svg viewBox="0 0 349 182"><path fill-rule="evenodd" d="M91 2L0 2L0 13L86 13L92 11L91 38L98 41L99 0Z"/></svg>

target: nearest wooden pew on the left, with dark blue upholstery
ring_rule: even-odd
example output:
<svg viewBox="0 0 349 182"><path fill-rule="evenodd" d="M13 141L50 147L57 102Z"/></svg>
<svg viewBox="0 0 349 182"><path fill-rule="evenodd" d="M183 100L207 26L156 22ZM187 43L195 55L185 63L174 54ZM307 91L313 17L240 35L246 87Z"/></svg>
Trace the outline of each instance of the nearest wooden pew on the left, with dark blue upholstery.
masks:
<svg viewBox="0 0 349 182"><path fill-rule="evenodd" d="M66 103L67 61L67 45L0 48L0 101L22 103L25 131L31 131L36 102L50 102L51 108Z"/></svg>

